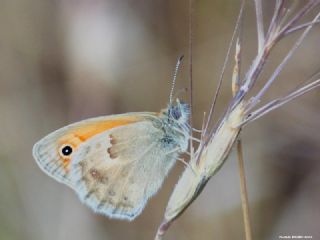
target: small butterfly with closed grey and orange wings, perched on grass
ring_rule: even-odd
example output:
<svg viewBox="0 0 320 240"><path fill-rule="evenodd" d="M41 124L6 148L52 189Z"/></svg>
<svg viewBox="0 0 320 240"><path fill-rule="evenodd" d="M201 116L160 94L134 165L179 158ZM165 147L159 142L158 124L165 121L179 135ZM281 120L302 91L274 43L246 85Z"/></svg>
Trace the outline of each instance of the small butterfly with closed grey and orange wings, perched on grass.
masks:
<svg viewBox="0 0 320 240"><path fill-rule="evenodd" d="M187 150L189 112L189 105L177 99L159 113L83 120L41 139L33 156L95 212L133 220Z"/></svg>

